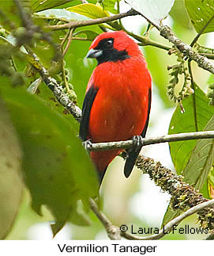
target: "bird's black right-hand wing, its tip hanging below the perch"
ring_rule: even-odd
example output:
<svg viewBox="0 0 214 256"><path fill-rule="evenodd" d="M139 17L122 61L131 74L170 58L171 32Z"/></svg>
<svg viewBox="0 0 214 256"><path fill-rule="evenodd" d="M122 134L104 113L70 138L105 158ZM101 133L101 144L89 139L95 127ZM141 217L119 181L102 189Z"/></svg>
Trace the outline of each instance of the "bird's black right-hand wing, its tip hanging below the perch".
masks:
<svg viewBox="0 0 214 256"><path fill-rule="evenodd" d="M149 113L151 109L151 88L148 89L148 113L147 113L147 119L145 122L145 127L143 129L143 132L141 132L141 136L144 138L146 130L148 128L148 119L149 119ZM137 148L137 150L131 150L128 152L128 157L126 159L126 163L124 166L124 174L126 178L128 178L133 170L133 166L137 160L137 156L139 155L142 147Z"/></svg>

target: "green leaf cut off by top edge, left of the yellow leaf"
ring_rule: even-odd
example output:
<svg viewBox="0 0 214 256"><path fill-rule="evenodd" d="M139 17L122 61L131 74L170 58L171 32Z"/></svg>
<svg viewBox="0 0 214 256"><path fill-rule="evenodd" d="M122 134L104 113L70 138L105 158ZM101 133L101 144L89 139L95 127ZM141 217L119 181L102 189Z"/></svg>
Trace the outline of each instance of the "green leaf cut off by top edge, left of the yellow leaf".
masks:
<svg viewBox="0 0 214 256"><path fill-rule="evenodd" d="M38 12L39 10L47 10L57 6L62 6L66 2L73 2L73 0L32 0L32 11Z"/></svg>

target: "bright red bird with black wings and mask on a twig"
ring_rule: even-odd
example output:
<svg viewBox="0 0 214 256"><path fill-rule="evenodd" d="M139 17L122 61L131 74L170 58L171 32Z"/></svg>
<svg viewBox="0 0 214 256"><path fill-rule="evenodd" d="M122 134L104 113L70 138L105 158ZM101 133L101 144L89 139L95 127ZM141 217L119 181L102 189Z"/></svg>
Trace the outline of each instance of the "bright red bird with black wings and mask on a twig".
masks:
<svg viewBox="0 0 214 256"><path fill-rule="evenodd" d="M104 32L89 48L96 58L84 97L80 137L92 143L145 137L151 106L151 76L137 44L126 32ZM137 136L137 137L136 137ZM128 151L124 174L133 170L141 146ZM100 182L109 163L122 150L91 152Z"/></svg>

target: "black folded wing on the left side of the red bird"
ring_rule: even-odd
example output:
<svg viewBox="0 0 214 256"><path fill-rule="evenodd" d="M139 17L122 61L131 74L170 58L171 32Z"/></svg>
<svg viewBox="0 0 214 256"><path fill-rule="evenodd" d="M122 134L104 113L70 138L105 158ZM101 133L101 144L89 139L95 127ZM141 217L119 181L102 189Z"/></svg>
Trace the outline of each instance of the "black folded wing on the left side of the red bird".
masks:
<svg viewBox="0 0 214 256"><path fill-rule="evenodd" d="M92 109L94 99L96 97L98 88L95 88L93 85L90 86L85 94L83 107L82 107L82 116L81 116L81 126L79 136L84 141L88 139L88 123L89 117Z"/></svg>

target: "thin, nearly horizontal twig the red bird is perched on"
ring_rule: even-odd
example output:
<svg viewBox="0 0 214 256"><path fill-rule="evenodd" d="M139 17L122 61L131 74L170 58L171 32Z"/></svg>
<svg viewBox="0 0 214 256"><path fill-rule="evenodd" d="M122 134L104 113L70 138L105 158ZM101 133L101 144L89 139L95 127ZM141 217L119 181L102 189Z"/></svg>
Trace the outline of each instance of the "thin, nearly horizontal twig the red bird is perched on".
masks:
<svg viewBox="0 0 214 256"><path fill-rule="evenodd" d="M190 140L190 139L214 139L214 131L205 131L205 132L186 132L171 134L166 136L158 136L153 138L143 138L141 139L141 146L148 146L157 143L166 143L166 142L176 142L181 140ZM92 143L88 144L88 151L106 151L106 150L115 150L115 149L127 149L133 147L133 140L125 141L115 141L107 143Z"/></svg>

